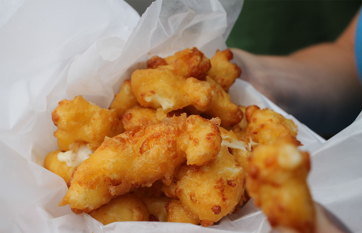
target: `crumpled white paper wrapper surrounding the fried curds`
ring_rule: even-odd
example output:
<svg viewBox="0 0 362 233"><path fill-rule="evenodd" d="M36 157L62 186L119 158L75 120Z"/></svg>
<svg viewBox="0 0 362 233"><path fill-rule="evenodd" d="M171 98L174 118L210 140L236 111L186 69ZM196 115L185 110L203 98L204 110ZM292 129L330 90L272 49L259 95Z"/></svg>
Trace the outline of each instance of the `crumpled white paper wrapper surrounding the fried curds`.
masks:
<svg viewBox="0 0 362 233"><path fill-rule="evenodd" d="M25 1L1 20L1 231L2 232L268 232L252 200L209 228L181 223L118 222L103 226L69 206L58 207L64 180L42 167L57 148L51 111L83 95L108 108L123 80L152 55L198 47L211 57L225 40L242 1L154 2L139 20L122 1ZM138 21L139 20L139 21ZM78 54L78 55L76 55ZM362 116L329 141L319 137L237 80L235 103L268 107L299 127L312 152L313 197L353 232L362 232ZM323 143L323 144L322 144Z"/></svg>

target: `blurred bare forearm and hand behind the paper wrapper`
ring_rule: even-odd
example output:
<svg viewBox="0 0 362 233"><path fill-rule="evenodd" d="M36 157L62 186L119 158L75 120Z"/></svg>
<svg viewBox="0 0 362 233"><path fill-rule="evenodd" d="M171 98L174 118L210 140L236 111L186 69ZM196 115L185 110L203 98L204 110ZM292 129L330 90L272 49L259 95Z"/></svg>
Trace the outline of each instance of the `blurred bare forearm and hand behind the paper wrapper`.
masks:
<svg viewBox="0 0 362 233"><path fill-rule="evenodd" d="M354 56L357 19L358 13L334 42L288 56L231 49L243 71L241 78L303 122L318 122L323 128L350 115L357 117L362 110L362 84Z"/></svg>

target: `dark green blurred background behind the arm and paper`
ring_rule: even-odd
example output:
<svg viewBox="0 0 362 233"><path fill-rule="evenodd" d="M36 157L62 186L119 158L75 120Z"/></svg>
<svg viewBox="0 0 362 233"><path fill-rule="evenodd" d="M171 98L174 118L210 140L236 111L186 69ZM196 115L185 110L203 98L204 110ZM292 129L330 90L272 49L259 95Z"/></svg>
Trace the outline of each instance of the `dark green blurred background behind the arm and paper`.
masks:
<svg viewBox="0 0 362 233"><path fill-rule="evenodd" d="M126 0L140 15L152 0ZM321 42L331 42L342 33L361 7L362 0L245 0L233 27L228 47L263 55L287 55ZM356 113L358 115L358 112ZM320 126L310 116L295 116L328 139L351 124L357 115L344 122Z"/></svg>

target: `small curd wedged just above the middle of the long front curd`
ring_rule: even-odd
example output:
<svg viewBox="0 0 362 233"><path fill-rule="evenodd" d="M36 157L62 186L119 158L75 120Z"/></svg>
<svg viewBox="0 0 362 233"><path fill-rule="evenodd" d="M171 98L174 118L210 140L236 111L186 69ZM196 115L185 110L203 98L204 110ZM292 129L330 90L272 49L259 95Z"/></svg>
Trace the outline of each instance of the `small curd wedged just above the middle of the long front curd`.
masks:
<svg viewBox="0 0 362 233"><path fill-rule="evenodd" d="M140 125L146 127L151 122L160 122L160 120L157 118L156 109L143 107L128 109L121 116L121 121L123 128L125 128L127 131L132 130L135 126Z"/></svg>

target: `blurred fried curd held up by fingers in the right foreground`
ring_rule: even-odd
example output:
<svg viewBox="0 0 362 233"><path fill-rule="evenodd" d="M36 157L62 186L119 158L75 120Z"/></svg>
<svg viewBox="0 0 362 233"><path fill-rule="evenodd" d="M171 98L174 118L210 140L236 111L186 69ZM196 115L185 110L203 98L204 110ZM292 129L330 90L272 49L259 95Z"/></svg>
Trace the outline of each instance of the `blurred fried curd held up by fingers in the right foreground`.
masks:
<svg viewBox="0 0 362 233"><path fill-rule="evenodd" d="M315 210L307 185L310 159L290 142L259 145L249 158L248 194L271 226L314 232Z"/></svg>

